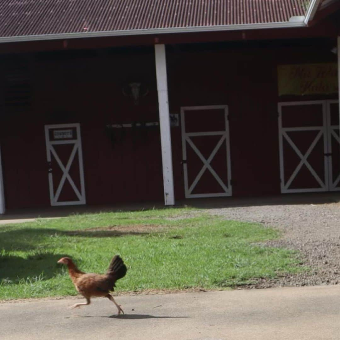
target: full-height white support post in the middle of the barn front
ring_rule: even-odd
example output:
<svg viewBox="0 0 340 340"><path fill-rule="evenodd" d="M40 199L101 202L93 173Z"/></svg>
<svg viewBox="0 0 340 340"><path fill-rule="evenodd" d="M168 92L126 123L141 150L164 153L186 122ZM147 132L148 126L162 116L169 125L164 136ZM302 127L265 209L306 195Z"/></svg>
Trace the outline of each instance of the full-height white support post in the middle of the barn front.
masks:
<svg viewBox="0 0 340 340"><path fill-rule="evenodd" d="M167 63L165 46L163 44L155 45L155 61L158 91L160 143L162 148L164 202L165 205L174 205L175 195L172 172Z"/></svg>

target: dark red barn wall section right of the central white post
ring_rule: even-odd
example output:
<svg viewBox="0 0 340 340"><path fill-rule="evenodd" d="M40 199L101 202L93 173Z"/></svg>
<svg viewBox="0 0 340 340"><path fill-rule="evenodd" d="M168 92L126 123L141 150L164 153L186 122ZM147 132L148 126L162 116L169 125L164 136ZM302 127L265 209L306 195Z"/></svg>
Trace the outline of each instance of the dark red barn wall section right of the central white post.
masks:
<svg viewBox="0 0 340 340"><path fill-rule="evenodd" d="M199 45L191 50L169 48L172 113L179 113L181 106L228 105L233 196L280 193L277 103L337 96L278 97L277 65L336 62L330 52L333 43L316 40L281 47L244 43L223 49L210 46L210 51ZM180 129L173 130L172 139L175 193L183 198Z"/></svg>

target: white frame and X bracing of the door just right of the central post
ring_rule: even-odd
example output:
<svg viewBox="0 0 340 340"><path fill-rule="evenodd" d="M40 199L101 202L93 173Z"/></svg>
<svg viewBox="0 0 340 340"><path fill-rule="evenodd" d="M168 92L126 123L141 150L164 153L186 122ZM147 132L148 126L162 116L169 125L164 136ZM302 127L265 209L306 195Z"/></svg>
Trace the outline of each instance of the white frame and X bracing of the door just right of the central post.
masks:
<svg viewBox="0 0 340 340"><path fill-rule="evenodd" d="M225 119L225 130L222 131L211 131L211 132L186 132L185 131L185 119L184 114L185 111L192 110L211 110L211 109L223 109L224 110L224 119ZM232 186L231 186L231 161L230 161L230 144L229 144L229 123L228 123L228 106L227 105L206 105L206 106L182 106L181 107L181 125L182 125L182 151L183 151L183 170L184 170L184 189L185 189L185 197L186 198L194 198L194 197L220 197L220 196L231 196L232 195ZM191 137L196 136L221 136L220 140L216 144L214 150L212 150L208 159L201 154L198 148L194 145ZM215 170L211 167L210 162L216 155L218 149L221 147L223 143L226 143L226 163L227 163L227 177L228 184L223 183L221 178L215 172ZM198 175L191 183L189 187L188 183L188 166L186 163L187 159L187 149L186 143L190 145L190 147L194 150L194 152L198 155L198 157L203 162L203 167L199 171ZM199 193L192 194L193 189L201 179L205 170L209 170L210 173L214 176L216 181L220 184L221 188L224 192L218 193Z"/></svg>

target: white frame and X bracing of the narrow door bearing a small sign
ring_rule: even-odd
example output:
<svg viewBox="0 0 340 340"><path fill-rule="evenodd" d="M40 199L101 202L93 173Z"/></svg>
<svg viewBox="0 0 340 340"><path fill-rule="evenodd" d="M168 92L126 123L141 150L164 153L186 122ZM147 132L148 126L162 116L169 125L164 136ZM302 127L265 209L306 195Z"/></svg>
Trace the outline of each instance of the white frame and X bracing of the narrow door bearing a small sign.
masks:
<svg viewBox="0 0 340 340"><path fill-rule="evenodd" d="M49 130L50 129L69 129L69 128L76 128L77 130L77 139L69 139L69 140L53 140L50 141L49 138ZM54 194L54 188L53 188L53 174L52 172L49 172L48 174L48 181L49 181L49 189L50 189L50 201L51 205L75 205L75 204L85 204L85 183L84 183L84 168L83 168L83 153L82 153L82 143L81 143L81 137L80 137L80 124L54 124L54 125L45 125L45 138L46 138L46 151L47 151L47 162L51 162L51 154L53 154L56 162L60 166L63 175L60 180L60 183L58 184L57 190ZM73 144L73 149L71 152L71 155L68 159L68 162L66 166L63 165L60 158L58 157L54 145L65 145L65 144ZM78 190L77 186L74 184L70 174L68 173L70 170L70 167L72 165L72 162L74 160L75 155L78 151L78 157L79 157L79 177L80 177L80 191ZM78 197L78 201L65 201L61 202L58 201L60 193L62 191L62 188L65 184L66 179L69 181L72 189L74 190L74 193Z"/></svg>

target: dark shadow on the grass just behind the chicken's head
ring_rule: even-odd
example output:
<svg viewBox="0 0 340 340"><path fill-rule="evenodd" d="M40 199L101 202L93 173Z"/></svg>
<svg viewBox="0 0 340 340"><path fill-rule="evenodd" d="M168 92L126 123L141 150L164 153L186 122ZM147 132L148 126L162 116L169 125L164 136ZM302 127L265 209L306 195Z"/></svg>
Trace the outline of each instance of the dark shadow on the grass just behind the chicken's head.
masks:
<svg viewBox="0 0 340 340"><path fill-rule="evenodd" d="M0 253L0 283L34 283L47 280L56 275L60 266L57 260L61 254L35 251L27 258Z"/></svg>

